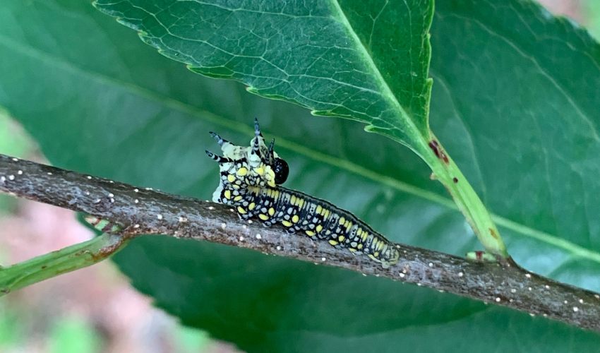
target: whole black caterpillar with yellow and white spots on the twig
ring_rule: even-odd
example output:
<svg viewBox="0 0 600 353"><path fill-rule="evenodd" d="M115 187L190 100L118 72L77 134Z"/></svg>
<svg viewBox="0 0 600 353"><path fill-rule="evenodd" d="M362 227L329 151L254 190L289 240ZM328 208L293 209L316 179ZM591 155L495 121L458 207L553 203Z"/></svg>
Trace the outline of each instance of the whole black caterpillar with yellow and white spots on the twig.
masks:
<svg viewBox="0 0 600 353"><path fill-rule="evenodd" d="M289 233L304 232L312 239L328 241L336 248L365 254L388 268L398 262L400 252L365 222L328 201L286 189L289 166L274 150L275 139L265 144L258 120L250 146L242 147L210 132L222 150L206 154L219 164L219 186L212 201L232 205L239 217L258 217L267 227L279 222Z"/></svg>

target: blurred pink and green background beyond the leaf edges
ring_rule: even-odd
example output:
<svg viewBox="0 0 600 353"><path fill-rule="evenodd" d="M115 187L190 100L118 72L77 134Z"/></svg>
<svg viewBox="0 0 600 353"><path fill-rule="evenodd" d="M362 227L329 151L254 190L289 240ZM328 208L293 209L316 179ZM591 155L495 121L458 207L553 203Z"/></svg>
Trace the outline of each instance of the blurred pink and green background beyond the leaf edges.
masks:
<svg viewBox="0 0 600 353"><path fill-rule="evenodd" d="M551 12L581 23L600 40L599 0L541 3ZM0 152L44 162L35 141L1 112ZM2 265L90 237L91 232L68 210L0 195ZM0 352L235 351L153 308L151 300L132 289L127 278L108 261L0 299Z"/></svg>

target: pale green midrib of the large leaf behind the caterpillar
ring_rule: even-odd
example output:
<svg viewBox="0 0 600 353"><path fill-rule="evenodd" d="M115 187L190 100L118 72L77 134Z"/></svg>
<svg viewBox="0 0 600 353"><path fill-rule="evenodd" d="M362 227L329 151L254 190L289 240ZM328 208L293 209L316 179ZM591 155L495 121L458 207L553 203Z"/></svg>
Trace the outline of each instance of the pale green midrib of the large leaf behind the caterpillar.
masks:
<svg viewBox="0 0 600 353"><path fill-rule="evenodd" d="M205 111L203 109L198 109L191 104L187 104L185 102L181 102L179 100L174 100L171 97L167 97L162 95L159 92L154 92L152 90L148 90L147 88L143 88L140 85L135 85L133 83L127 83L125 81L119 80L117 78L113 78L111 76L106 76L103 73L98 73L95 71L85 70L76 66L76 64L71 63L70 61L66 61L64 58L53 56L52 54L48 54L47 52L42 52L35 47L30 47L28 45L23 45L18 42L14 42L10 38L0 35L0 44L6 45L6 47L12 47L16 52L21 52L26 56L30 56L32 59L38 59L40 61L46 61L54 64L57 68L61 68L64 71L74 73L80 76L87 76L92 80L100 82L106 85L116 85L117 87L124 88L128 90L133 95L138 95L139 97L143 97L148 100L154 100L156 102L161 102L164 104L164 107L169 107L175 109L179 112L189 114L191 116L195 116L198 119L203 119L205 121L210 121L212 124L217 124L219 126L223 126L225 128L230 128L234 131L238 131L240 133L251 133L251 129L245 126L244 124L237 123L236 121L225 118L224 116L220 116L217 114L213 114L211 112ZM8 111L8 109L7 109ZM347 172L352 172L356 175L364 177L366 179L371 179L372 181L376 181L381 184L385 184L390 186L392 189L397 191L402 191L404 193L409 193L413 196L417 196L423 198L427 201L431 201L433 203L438 203L438 205L443 205L452 210L457 210L457 206L452 202L449 198L445 198L431 191L427 191L425 189L421 189L417 186L407 184L404 181L400 181L397 179L393 179L391 177L385 176L383 174L379 174L377 172L373 172L370 169L366 169L361 167L358 164L354 164L347 160L338 160L331 155L327 155L323 152L318 152L316 150L312 150L311 148L306 148L303 145L299 145L293 143L289 140L285 140L284 138L277 138L277 144L282 146L283 148L287 148L288 150L292 150L297 152L305 157L308 157L317 162L323 162L326 164L330 164L334 167L338 167L340 169L344 169ZM524 237L529 237L533 239L537 239L546 244L551 244L560 249L564 249L566 252L570 253L572 256L577 256L579 258L584 258L589 261L594 261L596 263L600 263L600 253L591 251L589 249L585 249L582 246L574 244L565 239L560 239L553 234L548 234L546 232L541 232L537 229L533 229L527 225L522 225L519 222L515 222L509 220L505 217L501 217L499 215L495 215L492 213L493 220L500 226L510 229L518 234L522 234Z"/></svg>

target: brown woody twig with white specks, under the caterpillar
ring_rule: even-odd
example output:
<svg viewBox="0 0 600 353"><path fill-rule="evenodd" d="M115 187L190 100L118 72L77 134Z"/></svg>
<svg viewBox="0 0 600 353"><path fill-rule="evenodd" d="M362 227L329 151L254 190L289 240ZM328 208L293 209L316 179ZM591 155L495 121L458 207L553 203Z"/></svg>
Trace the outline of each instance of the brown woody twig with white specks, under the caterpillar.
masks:
<svg viewBox="0 0 600 353"><path fill-rule="evenodd" d="M384 269L324 241L243 222L224 205L136 188L0 155L0 191L88 213L124 227L123 237L169 234L347 268L508 306L600 332L600 295L529 273L512 261L467 261L397 244L402 257Z"/></svg>

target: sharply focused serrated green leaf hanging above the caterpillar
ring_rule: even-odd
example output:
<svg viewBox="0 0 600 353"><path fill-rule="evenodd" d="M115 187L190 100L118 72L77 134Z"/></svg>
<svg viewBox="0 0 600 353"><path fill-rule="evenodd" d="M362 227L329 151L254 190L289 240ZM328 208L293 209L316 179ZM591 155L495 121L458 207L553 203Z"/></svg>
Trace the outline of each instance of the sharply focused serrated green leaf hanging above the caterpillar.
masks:
<svg viewBox="0 0 600 353"><path fill-rule="evenodd" d="M94 4L192 71L428 151L431 0Z"/></svg>

